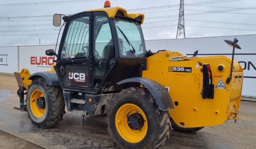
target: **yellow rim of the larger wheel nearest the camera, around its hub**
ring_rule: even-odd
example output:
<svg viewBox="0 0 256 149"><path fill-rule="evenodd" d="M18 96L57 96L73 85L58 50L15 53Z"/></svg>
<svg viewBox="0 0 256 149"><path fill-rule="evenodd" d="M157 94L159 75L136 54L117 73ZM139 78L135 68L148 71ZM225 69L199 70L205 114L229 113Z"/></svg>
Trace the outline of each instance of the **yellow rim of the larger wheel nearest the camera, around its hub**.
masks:
<svg viewBox="0 0 256 149"><path fill-rule="evenodd" d="M128 125L128 116L130 114L139 113L144 119L144 125L141 129L133 130ZM121 106L115 115L115 126L119 135L127 142L138 143L147 134L148 131L148 121L146 115L141 110L139 106L134 104L124 104Z"/></svg>

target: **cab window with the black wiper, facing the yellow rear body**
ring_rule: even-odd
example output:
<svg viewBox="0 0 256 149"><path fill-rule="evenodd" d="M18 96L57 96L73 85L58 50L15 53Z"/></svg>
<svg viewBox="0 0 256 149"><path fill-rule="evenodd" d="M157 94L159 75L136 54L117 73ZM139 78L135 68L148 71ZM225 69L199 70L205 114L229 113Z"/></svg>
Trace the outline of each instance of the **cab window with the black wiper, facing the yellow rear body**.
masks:
<svg viewBox="0 0 256 149"><path fill-rule="evenodd" d="M124 58L144 57L146 50L141 25L134 21L115 19L119 55Z"/></svg>

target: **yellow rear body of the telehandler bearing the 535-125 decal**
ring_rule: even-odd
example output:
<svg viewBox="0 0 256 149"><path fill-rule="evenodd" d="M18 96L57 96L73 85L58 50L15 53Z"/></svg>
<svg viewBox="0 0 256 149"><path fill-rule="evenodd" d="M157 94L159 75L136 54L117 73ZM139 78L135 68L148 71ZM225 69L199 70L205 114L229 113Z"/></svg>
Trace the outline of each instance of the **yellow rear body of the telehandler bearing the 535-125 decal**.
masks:
<svg viewBox="0 0 256 149"><path fill-rule="evenodd" d="M232 80L226 84L230 74L231 58L212 56L182 57L191 60L170 60L181 55L179 52L171 51L154 54L147 58L147 70L142 73L142 77L155 80L169 88L169 94L175 105L175 108L169 112L175 123L183 128L191 128L220 125L228 119L238 119L243 84L243 68L239 63L234 60ZM198 61L210 64L212 84L214 84L213 99L203 99L201 96L203 73ZM218 71L219 65L224 67L223 71ZM191 67L192 72L172 72L169 67ZM226 89L215 88L220 79L225 83Z"/></svg>

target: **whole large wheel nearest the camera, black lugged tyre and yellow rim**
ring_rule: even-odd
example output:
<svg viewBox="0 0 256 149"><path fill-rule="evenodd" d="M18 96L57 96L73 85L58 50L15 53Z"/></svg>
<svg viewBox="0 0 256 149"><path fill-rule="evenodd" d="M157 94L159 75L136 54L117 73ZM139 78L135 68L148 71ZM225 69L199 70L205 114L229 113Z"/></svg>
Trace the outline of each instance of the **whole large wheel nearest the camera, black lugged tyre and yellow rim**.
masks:
<svg viewBox="0 0 256 149"><path fill-rule="evenodd" d="M153 96L142 87L122 90L110 101L107 125L118 148L159 148L171 129L168 112L159 110Z"/></svg>

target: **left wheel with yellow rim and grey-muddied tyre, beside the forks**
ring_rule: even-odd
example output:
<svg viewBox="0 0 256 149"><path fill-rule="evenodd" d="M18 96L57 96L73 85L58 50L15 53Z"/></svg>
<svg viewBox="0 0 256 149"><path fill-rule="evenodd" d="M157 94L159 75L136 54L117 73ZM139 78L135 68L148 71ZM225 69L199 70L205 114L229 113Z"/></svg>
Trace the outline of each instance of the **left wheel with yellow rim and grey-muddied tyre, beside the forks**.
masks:
<svg viewBox="0 0 256 149"><path fill-rule="evenodd" d="M39 98L44 103L43 108L38 107ZM49 86L43 78L36 78L32 81L26 103L31 123L38 127L53 127L63 120L65 102L62 89L59 86Z"/></svg>

